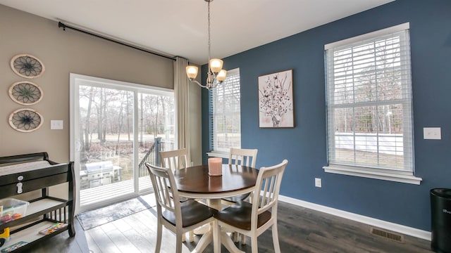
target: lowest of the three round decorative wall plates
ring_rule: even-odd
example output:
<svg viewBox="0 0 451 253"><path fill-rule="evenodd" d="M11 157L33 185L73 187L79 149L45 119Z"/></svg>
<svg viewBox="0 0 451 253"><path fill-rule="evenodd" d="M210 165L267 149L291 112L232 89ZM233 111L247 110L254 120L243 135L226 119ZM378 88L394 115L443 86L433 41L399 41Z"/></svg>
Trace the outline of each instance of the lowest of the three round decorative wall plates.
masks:
<svg viewBox="0 0 451 253"><path fill-rule="evenodd" d="M15 110L9 115L9 124L11 127L16 129L16 131L25 133L39 129L43 122L44 118L42 115L29 108Z"/></svg>

